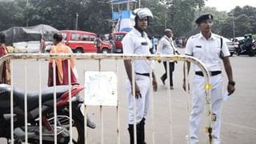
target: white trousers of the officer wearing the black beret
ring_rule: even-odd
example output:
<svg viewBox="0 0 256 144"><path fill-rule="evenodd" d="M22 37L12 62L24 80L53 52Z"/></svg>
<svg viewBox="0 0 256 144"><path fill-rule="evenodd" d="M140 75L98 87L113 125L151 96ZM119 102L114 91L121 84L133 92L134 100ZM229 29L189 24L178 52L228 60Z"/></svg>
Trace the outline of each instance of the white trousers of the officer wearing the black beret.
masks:
<svg viewBox="0 0 256 144"><path fill-rule="evenodd" d="M199 126L204 114L205 106L205 79L202 76L194 75L193 93L192 93L192 110L190 114L190 144L198 143ZM222 74L210 77L211 89L211 107L212 113L216 114L217 121L213 122L213 143L220 144L221 132L221 111L222 111Z"/></svg>

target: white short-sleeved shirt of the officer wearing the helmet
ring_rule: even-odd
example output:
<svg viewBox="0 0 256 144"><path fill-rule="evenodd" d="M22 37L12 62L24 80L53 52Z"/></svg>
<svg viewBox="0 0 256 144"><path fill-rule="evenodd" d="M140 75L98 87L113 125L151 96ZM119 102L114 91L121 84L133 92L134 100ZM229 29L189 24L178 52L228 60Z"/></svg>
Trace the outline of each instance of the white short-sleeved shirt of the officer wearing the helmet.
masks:
<svg viewBox="0 0 256 144"><path fill-rule="evenodd" d="M122 50L123 54L150 54L150 47L152 46L150 39L147 34L143 32L142 34L136 30L131 30L122 39ZM134 71L136 73L150 73L152 68L152 62L148 60L135 60L134 61Z"/></svg>

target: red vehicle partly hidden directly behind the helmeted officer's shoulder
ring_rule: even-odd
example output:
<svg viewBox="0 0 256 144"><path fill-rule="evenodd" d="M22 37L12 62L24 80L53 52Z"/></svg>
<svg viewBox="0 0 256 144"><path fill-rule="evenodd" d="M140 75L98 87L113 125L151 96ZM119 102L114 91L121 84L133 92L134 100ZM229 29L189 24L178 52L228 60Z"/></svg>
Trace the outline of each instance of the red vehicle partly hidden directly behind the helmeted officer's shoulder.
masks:
<svg viewBox="0 0 256 144"><path fill-rule="evenodd" d="M114 32L112 38L114 38L115 49L113 53L122 53L122 38L125 37L126 32Z"/></svg>

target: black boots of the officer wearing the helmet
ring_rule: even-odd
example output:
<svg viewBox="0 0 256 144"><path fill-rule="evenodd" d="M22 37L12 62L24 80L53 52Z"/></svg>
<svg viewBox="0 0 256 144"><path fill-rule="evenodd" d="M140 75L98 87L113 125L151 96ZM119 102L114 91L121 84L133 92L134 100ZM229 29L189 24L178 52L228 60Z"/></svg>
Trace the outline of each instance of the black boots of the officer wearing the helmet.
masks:
<svg viewBox="0 0 256 144"><path fill-rule="evenodd" d="M139 122L137 128L137 144L146 144L145 142L145 118ZM129 125L128 131L130 134L130 144L134 144L134 125Z"/></svg>

